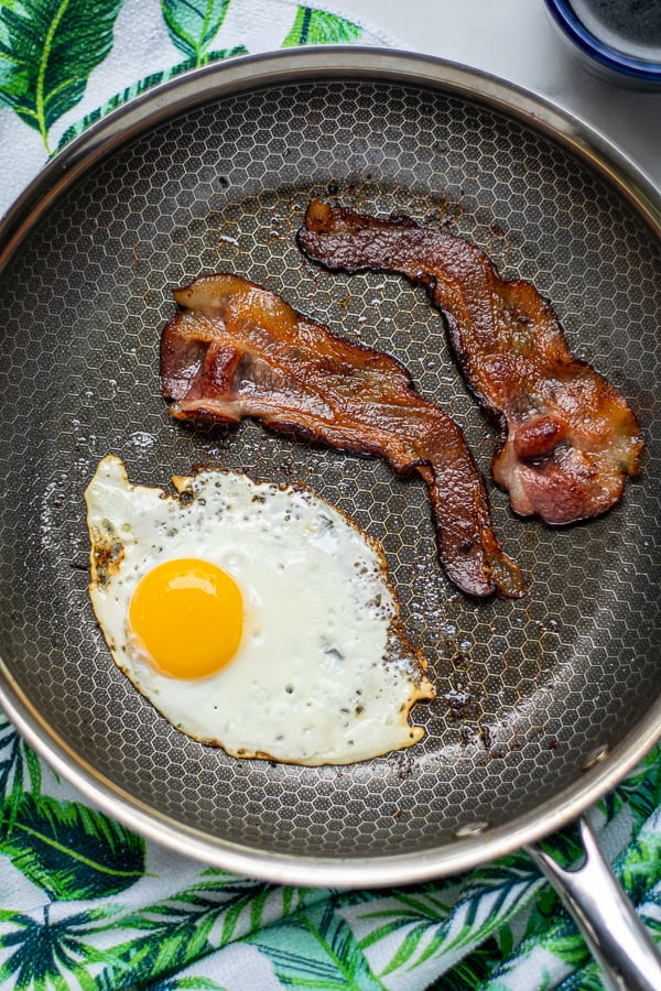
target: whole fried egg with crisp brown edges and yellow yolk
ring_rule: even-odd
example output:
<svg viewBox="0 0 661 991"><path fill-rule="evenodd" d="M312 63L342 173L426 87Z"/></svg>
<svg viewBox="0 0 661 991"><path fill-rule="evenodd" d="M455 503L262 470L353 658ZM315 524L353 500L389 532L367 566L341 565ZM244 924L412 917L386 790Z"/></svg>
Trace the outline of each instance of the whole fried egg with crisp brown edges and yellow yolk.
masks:
<svg viewBox="0 0 661 991"><path fill-rule="evenodd" d="M89 593L118 667L178 730L238 758L346 764L424 736L434 697L383 553L312 491L204 469L176 492L99 464Z"/></svg>

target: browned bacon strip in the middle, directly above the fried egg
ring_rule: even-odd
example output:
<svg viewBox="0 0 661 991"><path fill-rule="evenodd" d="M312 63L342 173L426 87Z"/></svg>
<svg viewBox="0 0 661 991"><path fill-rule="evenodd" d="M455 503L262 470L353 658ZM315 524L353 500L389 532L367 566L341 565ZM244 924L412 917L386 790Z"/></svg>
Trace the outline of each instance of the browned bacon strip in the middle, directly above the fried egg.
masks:
<svg viewBox="0 0 661 991"><path fill-rule="evenodd" d="M161 383L177 417L277 431L384 458L424 478L448 577L474 596L521 592L491 529L484 481L459 427L422 399L393 358L336 337L236 275L176 290L163 330Z"/></svg>

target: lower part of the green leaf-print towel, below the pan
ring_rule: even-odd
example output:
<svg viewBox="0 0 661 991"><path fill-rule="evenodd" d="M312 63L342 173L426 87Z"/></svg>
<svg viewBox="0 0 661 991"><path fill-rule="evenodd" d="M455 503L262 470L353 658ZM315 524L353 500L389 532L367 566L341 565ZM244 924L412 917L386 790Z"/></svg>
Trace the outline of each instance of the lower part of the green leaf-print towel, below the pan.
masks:
<svg viewBox="0 0 661 991"><path fill-rule="evenodd" d="M6 750L12 736L4 725ZM660 756L655 750L646 765ZM172 854L159 870L164 851L80 801L40 794L40 781L26 780L33 792L23 793L0 843L23 878L12 905L29 906L0 907L0 987L203 991L225 987L228 950L258 954L273 988L602 987L574 924L523 853L384 892L280 887ZM636 784L648 793L640 769L622 787ZM7 778L6 803L11 792ZM602 816L602 825L613 821ZM629 834L614 868L661 937L661 810ZM548 846L568 862L575 834Z"/></svg>

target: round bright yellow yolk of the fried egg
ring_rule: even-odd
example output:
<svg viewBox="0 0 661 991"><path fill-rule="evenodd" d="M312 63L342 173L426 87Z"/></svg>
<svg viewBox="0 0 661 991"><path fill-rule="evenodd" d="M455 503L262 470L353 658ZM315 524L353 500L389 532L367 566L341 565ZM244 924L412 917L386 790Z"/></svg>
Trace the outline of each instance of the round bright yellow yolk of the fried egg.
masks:
<svg viewBox="0 0 661 991"><path fill-rule="evenodd" d="M129 622L153 664L173 678L204 678L228 664L243 629L234 578L197 558L167 560L138 584Z"/></svg>

